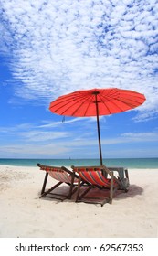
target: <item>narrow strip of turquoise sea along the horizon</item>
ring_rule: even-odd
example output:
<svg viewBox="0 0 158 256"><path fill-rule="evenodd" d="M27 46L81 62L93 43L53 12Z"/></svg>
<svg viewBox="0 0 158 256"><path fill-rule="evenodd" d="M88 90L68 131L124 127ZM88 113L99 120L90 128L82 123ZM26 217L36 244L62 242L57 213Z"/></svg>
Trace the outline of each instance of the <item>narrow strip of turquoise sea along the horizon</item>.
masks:
<svg viewBox="0 0 158 256"><path fill-rule="evenodd" d="M35 167L37 163L52 166L94 166L100 165L100 159L0 159L0 165ZM103 164L111 167L120 166L131 169L158 169L158 158L109 158L103 159Z"/></svg>

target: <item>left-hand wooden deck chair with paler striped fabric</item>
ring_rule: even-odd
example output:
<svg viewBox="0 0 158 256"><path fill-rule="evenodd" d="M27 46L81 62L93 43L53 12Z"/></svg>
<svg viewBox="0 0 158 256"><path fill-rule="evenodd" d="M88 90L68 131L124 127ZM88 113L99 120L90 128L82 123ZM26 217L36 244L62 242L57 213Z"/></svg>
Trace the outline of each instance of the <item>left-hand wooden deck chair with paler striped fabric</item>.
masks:
<svg viewBox="0 0 158 256"><path fill-rule="evenodd" d="M55 166L47 166L47 165L40 165L37 164L38 167L40 167L41 170L46 171L46 176L44 178L44 183L41 190L40 197L50 197L50 198L56 198L61 201L64 199L70 199L72 194L77 190L73 189L75 185L78 185L78 179L79 176L76 175L74 172L71 172L68 170L68 168L62 166L62 167L55 167ZM51 176L52 178L58 180L58 183L54 185L53 187L49 188L47 191L45 191L47 186L47 176ZM67 184L69 186L68 195L65 194L59 194L59 193L52 193L52 191L60 186L61 184Z"/></svg>

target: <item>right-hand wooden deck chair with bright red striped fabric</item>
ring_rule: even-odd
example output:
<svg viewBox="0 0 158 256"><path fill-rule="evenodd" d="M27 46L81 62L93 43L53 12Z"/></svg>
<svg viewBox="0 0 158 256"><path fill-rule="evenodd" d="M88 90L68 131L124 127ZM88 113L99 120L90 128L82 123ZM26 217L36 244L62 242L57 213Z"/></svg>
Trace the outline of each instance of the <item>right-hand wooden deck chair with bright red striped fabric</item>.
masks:
<svg viewBox="0 0 158 256"><path fill-rule="evenodd" d="M101 166L74 166L72 165L74 173L79 174L78 190L76 195L76 202L88 202L88 203L100 203L103 206L105 203L112 203L113 194L117 189L121 188L125 190L125 187L121 186L121 181L113 175L113 170L109 170L105 165ZM90 183L86 189L81 192L81 181ZM100 188L109 190L109 196L101 197L85 197L85 195L92 188Z"/></svg>

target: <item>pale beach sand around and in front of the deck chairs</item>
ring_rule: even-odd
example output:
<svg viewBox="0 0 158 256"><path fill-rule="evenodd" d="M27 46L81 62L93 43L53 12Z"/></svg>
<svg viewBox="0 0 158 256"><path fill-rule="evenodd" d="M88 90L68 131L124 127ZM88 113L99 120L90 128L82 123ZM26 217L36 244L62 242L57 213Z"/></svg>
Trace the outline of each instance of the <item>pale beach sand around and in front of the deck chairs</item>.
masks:
<svg viewBox="0 0 158 256"><path fill-rule="evenodd" d="M0 165L1 238L158 237L158 169L129 169L129 192L103 207L39 198L44 176L38 167Z"/></svg>

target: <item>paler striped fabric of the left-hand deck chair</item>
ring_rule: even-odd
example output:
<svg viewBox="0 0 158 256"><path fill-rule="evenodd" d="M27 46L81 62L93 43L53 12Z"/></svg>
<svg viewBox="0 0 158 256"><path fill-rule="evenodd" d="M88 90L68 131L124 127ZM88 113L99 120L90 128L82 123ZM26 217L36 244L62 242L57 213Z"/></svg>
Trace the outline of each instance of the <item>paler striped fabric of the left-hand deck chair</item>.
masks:
<svg viewBox="0 0 158 256"><path fill-rule="evenodd" d="M64 167L55 167L40 164L37 164L37 166L39 166L41 170L46 171L49 176L57 179L58 181L71 183L72 176L70 176L70 172L66 171L66 168L64 169Z"/></svg>

